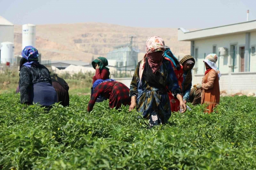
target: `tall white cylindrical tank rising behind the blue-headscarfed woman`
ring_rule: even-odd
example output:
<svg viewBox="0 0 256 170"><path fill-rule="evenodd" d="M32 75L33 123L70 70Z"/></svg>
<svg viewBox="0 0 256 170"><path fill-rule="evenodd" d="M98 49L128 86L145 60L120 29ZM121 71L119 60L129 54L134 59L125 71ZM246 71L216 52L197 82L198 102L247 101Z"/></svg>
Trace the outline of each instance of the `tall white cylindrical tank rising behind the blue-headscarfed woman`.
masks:
<svg viewBox="0 0 256 170"><path fill-rule="evenodd" d="M22 49L26 46L36 46L36 26L33 24L22 25ZM36 48L36 47L35 47Z"/></svg>

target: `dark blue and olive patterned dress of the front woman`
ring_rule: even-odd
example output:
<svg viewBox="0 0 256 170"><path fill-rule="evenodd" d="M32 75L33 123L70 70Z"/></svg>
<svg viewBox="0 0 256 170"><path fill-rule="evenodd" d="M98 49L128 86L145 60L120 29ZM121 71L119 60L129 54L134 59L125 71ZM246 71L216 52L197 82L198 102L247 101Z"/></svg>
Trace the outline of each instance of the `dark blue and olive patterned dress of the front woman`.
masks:
<svg viewBox="0 0 256 170"><path fill-rule="evenodd" d="M136 96L137 111L142 113L143 118L149 119L150 126L167 123L171 117L168 93L166 89L149 86L143 77L140 80L139 67L140 62L136 66L130 84L130 97ZM172 65L168 60L163 59L160 72L168 89L172 92L180 89Z"/></svg>

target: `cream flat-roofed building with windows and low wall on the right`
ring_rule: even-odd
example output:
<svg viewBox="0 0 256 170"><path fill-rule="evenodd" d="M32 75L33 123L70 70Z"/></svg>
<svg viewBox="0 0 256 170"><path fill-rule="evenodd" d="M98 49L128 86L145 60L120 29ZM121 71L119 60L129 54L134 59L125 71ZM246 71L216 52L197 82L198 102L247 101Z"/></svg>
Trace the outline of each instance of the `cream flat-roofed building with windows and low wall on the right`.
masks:
<svg viewBox="0 0 256 170"><path fill-rule="evenodd" d="M191 56L196 60L193 83L201 83L204 57L216 53L222 73L220 90L256 93L256 20L196 31L180 28L178 40L191 42Z"/></svg>

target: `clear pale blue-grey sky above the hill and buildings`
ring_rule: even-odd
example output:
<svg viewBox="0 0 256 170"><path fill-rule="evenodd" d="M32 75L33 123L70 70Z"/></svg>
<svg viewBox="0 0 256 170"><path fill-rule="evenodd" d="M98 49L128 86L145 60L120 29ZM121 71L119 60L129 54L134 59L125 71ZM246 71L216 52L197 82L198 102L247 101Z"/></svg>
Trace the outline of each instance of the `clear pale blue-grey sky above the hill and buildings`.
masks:
<svg viewBox="0 0 256 170"><path fill-rule="evenodd" d="M256 19L256 0L0 0L13 24L103 22L131 27L208 28Z"/></svg>

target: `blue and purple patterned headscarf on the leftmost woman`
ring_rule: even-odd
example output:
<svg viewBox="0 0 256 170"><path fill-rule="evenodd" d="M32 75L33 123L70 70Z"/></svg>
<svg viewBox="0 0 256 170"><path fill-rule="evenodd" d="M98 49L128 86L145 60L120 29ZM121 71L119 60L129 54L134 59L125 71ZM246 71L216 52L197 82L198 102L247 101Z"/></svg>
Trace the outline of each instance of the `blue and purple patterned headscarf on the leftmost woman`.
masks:
<svg viewBox="0 0 256 170"><path fill-rule="evenodd" d="M36 48L34 48L32 46L26 46L22 50L21 56L28 60L28 62L24 63L24 66L30 68L32 63L38 62L39 54L38 54L38 51Z"/></svg>

